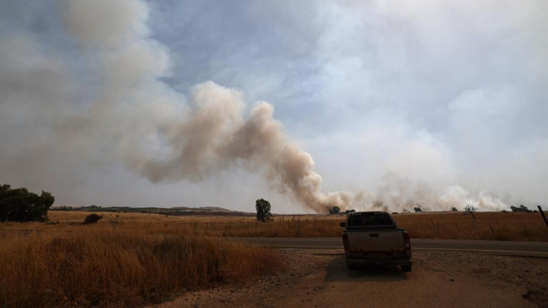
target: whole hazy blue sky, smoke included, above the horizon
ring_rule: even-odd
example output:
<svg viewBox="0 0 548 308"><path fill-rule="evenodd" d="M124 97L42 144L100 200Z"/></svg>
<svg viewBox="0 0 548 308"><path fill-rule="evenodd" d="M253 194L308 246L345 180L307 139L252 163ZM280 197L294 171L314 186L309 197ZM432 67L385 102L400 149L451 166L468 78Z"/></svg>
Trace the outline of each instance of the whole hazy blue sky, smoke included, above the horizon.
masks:
<svg viewBox="0 0 548 308"><path fill-rule="evenodd" d="M0 0L0 182L68 206L546 209L547 16Z"/></svg>

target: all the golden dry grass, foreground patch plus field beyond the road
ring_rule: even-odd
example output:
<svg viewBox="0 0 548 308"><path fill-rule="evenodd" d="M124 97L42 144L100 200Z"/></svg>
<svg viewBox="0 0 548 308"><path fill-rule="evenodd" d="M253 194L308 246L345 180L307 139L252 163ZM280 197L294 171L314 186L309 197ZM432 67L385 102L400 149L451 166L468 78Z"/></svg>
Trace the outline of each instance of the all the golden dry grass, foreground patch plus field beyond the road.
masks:
<svg viewBox="0 0 548 308"><path fill-rule="evenodd" d="M345 216L165 216L50 212L50 223L0 223L0 307L133 307L187 289L253 280L276 251L219 236L340 236ZM548 241L538 213L394 215L412 238Z"/></svg>

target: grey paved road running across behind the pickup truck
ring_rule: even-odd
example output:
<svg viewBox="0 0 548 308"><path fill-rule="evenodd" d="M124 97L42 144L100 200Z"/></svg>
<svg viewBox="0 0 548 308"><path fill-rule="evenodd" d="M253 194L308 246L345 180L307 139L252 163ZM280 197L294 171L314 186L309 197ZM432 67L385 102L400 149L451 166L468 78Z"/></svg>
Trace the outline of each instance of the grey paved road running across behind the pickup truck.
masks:
<svg viewBox="0 0 548 308"><path fill-rule="evenodd" d="M341 238L234 238L252 245L296 249L342 249ZM416 251L470 251L503 256L537 256L548 258L548 243L503 240L420 240L412 239Z"/></svg>

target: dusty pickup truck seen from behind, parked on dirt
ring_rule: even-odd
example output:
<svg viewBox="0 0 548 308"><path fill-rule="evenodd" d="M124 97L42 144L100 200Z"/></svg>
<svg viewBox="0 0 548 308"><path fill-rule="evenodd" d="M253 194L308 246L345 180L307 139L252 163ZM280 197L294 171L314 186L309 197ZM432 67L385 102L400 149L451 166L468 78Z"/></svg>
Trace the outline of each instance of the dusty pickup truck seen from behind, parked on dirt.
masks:
<svg viewBox="0 0 548 308"><path fill-rule="evenodd" d="M411 240L405 229L387 212L356 212L348 214L344 227L348 269L356 265L399 265L402 271L411 271Z"/></svg>

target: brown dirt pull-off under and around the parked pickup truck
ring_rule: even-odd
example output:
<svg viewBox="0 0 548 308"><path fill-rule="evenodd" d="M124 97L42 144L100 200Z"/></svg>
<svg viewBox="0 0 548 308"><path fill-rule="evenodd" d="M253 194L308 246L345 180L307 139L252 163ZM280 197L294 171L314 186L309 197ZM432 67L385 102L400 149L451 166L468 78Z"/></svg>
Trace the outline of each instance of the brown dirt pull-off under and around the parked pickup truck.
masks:
<svg viewBox="0 0 548 308"><path fill-rule="evenodd" d="M412 273L348 271L343 251L281 250L286 268L155 307L548 307L548 258L416 252Z"/></svg>

